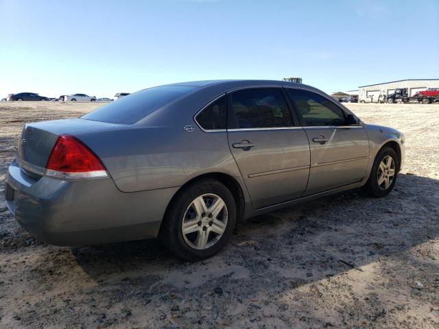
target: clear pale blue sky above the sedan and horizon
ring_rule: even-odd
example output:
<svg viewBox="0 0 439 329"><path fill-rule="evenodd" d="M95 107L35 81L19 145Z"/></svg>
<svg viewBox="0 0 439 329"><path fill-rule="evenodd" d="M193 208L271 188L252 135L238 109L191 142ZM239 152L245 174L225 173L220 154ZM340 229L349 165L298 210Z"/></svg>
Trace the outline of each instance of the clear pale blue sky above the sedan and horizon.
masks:
<svg viewBox="0 0 439 329"><path fill-rule="evenodd" d="M0 0L0 96L302 77L326 92L439 78L439 0Z"/></svg>

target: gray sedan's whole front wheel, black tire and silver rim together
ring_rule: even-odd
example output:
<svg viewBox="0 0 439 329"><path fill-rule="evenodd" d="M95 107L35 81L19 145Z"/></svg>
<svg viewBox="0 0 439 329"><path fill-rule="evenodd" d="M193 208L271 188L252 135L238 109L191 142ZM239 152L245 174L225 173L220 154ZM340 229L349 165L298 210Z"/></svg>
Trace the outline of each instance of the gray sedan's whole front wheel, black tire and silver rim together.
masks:
<svg viewBox="0 0 439 329"><path fill-rule="evenodd" d="M372 197L385 197L396 182L399 163L395 151L391 147L383 147L373 162L372 172L364 185L364 191Z"/></svg>

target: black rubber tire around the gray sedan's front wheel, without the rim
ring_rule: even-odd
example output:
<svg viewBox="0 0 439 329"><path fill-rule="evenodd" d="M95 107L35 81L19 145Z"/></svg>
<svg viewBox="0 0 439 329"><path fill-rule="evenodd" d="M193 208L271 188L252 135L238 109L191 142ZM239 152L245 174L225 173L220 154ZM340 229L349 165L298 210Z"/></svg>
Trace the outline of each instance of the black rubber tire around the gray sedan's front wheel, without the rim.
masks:
<svg viewBox="0 0 439 329"><path fill-rule="evenodd" d="M394 176L390 186L388 186L388 188L383 189L378 184L378 171L379 171L379 164L387 156L391 156L393 158ZM392 191L393 186L396 183L398 169L399 169L398 156L396 156L394 149L388 146L383 147L381 150L379 150L377 156L375 157L375 161L373 162L372 171L370 172L369 179L366 182L366 184L363 186L364 192L366 192L368 195L372 197L385 197L385 195L388 195Z"/></svg>

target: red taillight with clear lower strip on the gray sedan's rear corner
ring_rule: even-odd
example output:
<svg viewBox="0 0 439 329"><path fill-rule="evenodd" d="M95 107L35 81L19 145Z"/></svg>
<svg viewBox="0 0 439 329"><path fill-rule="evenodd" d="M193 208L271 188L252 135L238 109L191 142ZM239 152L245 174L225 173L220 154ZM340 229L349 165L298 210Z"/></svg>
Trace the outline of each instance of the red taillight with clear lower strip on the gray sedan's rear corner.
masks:
<svg viewBox="0 0 439 329"><path fill-rule="evenodd" d="M107 177L101 160L77 138L61 135L46 166L46 175L65 179Z"/></svg>

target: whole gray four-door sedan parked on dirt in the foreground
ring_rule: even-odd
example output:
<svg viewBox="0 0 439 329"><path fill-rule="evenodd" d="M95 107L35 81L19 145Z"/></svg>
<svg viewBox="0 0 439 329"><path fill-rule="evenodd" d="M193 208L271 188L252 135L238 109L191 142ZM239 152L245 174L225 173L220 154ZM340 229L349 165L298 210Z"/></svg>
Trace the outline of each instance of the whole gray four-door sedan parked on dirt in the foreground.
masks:
<svg viewBox="0 0 439 329"><path fill-rule="evenodd" d="M304 84L169 84L79 119L26 124L6 203L47 243L159 236L199 260L237 221L351 188L387 195L404 143Z"/></svg>

